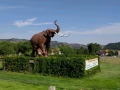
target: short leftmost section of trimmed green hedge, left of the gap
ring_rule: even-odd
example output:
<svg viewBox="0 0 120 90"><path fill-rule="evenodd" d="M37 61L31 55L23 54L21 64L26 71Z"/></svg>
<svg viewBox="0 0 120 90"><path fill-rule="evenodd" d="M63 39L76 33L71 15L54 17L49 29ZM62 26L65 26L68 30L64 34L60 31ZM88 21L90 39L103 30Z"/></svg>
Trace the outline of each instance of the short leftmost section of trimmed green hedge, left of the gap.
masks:
<svg viewBox="0 0 120 90"><path fill-rule="evenodd" d="M28 71L29 58L24 56L5 56L3 58L3 69L8 71Z"/></svg>

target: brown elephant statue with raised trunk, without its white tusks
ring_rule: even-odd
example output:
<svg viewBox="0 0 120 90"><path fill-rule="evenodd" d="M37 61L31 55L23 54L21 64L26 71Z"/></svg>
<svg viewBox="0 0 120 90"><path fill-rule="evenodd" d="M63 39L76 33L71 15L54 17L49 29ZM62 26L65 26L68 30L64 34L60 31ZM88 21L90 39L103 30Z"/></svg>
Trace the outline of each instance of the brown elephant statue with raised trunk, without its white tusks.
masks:
<svg viewBox="0 0 120 90"><path fill-rule="evenodd" d="M30 43L32 45L32 57L34 57L35 52L36 56L39 54L38 49L41 49L41 56L48 56L51 37L54 37L54 35L60 31L60 27L56 24L56 21L54 21L54 24L57 26L56 30L48 28L47 30L33 35L30 39Z"/></svg>

